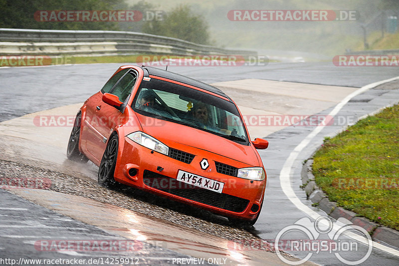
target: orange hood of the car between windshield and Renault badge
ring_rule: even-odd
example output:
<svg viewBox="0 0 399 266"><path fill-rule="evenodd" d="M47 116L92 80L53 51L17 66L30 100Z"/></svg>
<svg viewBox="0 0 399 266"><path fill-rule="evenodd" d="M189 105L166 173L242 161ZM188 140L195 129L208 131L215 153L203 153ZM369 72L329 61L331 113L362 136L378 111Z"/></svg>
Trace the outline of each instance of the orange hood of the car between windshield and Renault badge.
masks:
<svg viewBox="0 0 399 266"><path fill-rule="evenodd" d="M155 118L150 119L141 114L137 114L137 117L144 133L157 138L167 145L178 142L249 165L259 165L258 158L252 146L242 145L224 137L177 123Z"/></svg>

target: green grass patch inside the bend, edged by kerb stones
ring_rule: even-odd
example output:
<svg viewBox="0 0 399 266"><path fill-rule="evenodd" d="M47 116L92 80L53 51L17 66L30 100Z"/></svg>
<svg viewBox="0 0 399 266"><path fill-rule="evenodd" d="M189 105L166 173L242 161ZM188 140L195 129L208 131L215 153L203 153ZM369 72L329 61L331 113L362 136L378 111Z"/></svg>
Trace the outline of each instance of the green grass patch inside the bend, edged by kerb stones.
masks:
<svg viewBox="0 0 399 266"><path fill-rule="evenodd" d="M399 106L325 138L313 174L338 206L399 230Z"/></svg>

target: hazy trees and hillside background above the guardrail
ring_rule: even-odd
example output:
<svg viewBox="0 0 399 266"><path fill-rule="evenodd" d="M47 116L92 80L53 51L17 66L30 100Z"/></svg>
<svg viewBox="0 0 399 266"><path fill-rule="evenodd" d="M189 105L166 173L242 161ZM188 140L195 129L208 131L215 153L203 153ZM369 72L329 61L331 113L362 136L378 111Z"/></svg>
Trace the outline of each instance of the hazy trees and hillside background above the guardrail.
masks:
<svg viewBox="0 0 399 266"><path fill-rule="evenodd" d="M226 48L327 55L363 49L362 25L381 11L391 10L399 17L398 0L0 0L0 6L0 27L5 28L127 30ZM232 9L357 10L360 17L357 21L230 21L227 12ZM162 21L40 22L33 18L37 10L161 10L166 16ZM386 34L388 41L382 42L379 28L386 25L379 23L367 26L370 47L397 43L399 34Z"/></svg>

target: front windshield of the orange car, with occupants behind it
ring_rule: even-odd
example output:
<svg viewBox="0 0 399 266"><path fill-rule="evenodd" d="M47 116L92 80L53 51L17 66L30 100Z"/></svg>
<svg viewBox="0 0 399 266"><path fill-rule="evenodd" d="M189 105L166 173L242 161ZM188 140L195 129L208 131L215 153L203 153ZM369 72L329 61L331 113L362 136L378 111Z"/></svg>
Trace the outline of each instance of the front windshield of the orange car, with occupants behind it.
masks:
<svg viewBox="0 0 399 266"><path fill-rule="evenodd" d="M143 80L132 108L145 116L172 121L248 144L235 104L196 89L155 78Z"/></svg>

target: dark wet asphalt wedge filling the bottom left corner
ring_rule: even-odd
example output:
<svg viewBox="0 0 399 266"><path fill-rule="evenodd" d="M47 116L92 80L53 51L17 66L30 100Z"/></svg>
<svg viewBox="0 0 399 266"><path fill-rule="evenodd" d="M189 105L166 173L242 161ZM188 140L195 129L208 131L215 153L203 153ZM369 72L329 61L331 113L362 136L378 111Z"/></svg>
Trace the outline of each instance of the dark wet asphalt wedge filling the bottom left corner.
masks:
<svg viewBox="0 0 399 266"><path fill-rule="evenodd" d="M111 262L116 258L123 259L124 262L127 261L132 265L135 263L166 265L171 258L189 258L189 256L162 249L162 247L111 235L95 226L33 204L3 189L0 189L0 198L0 258L3 260L7 258L10 262L8 264L7 261L0 261L0 265L11 265L11 260L14 260L14 265L29 266L50 265L45 263L46 260L64 260L51 265L91 266L97 264L93 261ZM76 251L82 249L78 245L82 245L83 241L93 241L92 243L97 241L105 248L101 252L95 248L90 252L86 250L84 253L55 251L55 247L63 247L59 244L61 241L73 241L76 243ZM130 243L132 250L121 248L115 251L112 246L115 243ZM104 245L109 245L109 251Z"/></svg>

